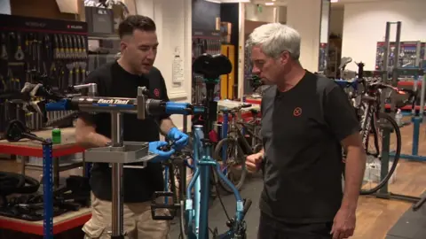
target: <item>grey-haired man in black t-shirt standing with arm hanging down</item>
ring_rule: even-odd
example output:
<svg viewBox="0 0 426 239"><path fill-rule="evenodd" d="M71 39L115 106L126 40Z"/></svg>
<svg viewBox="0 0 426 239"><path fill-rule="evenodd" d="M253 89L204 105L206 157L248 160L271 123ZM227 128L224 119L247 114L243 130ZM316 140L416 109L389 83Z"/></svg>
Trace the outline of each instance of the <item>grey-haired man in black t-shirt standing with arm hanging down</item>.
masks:
<svg viewBox="0 0 426 239"><path fill-rule="evenodd" d="M366 163L359 121L334 81L304 70L300 35L280 23L248 38L253 73L272 85L262 99L264 150L259 239L342 239L353 235ZM347 149L342 190L342 146Z"/></svg>

